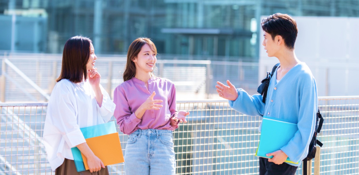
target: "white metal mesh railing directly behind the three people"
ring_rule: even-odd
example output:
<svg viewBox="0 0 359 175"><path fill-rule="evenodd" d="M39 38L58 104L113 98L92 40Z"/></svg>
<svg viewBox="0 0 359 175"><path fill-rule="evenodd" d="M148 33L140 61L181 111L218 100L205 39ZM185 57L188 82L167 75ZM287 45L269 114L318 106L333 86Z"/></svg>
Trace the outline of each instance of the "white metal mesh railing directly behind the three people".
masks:
<svg viewBox="0 0 359 175"><path fill-rule="evenodd" d="M231 109L227 101L179 101L190 111L189 123L174 132L177 175L256 175L255 157L260 117ZM359 96L321 97L325 123L318 139L324 143L318 162L321 175L359 174ZM0 174L51 175L42 132L47 103L0 104ZM112 120L115 120L112 118ZM117 127L118 129L118 127ZM119 130L117 130L119 131ZM123 152L128 136L119 132ZM124 175L123 163L109 166ZM303 170L299 167L297 175Z"/></svg>

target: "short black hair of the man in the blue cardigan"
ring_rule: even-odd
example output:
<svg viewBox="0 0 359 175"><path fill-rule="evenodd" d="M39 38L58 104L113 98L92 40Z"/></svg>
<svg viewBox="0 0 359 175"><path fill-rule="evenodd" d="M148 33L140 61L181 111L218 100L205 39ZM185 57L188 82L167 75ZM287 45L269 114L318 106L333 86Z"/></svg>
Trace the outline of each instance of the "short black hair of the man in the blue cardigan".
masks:
<svg viewBox="0 0 359 175"><path fill-rule="evenodd" d="M294 49L295 39L298 35L297 23L287 14L276 13L262 20L264 32L272 35L272 39L277 35L282 36L285 45L289 49Z"/></svg>

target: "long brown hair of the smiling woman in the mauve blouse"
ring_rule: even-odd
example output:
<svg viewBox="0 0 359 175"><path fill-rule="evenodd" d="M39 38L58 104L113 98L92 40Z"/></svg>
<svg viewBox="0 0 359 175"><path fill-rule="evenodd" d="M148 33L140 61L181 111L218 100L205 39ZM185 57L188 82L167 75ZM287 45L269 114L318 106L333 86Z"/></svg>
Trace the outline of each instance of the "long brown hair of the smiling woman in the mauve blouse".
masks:
<svg viewBox="0 0 359 175"><path fill-rule="evenodd" d="M156 46L149 38L139 37L139 38L135 39L131 43L131 45L129 47L129 51L127 52L126 69L123 72L123 81L124 82L127 80L131 80L131 78L136 75L136 67L135 67L133 60L137 57L138 53L140 53L142 47L145 44L147 44L151 48L151 50L157 54ZM156 68L156 66L154 67L154 69L155 68Z"/></svg>

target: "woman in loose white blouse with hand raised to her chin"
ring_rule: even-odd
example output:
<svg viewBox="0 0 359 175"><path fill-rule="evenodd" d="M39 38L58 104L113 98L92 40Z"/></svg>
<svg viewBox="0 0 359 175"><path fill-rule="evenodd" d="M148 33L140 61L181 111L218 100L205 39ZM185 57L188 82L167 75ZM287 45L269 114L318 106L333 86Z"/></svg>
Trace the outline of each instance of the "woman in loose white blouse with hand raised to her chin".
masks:
<svg viewBox="0 0 359 175"><path fill-rule="evenodd" d="M65 43L61 74L52 90L44 127L44 145L55 175L108 175L88 147L80 128L107 123L115 105L100 83L92 41L74 36ZM89 170L78 173L71 148L87 158Z"/></svg>

